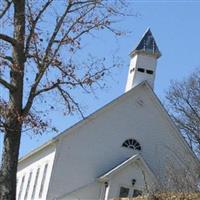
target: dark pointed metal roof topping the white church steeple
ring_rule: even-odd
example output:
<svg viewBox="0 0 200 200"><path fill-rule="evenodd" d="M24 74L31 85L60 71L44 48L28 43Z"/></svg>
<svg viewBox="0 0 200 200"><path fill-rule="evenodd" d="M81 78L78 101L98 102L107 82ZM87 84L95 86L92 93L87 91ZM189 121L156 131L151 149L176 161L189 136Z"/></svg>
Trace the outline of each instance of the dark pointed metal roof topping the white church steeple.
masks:
<svg viewBox="0 0 200 200"><path fill-rule="evenodd" d="M150 28L148 28L147 31L144 33L139 44L131 52L130 55L133 56L135 53L140 53L140 52L154 55L156 58L159 58L161 56L160 50L158 49L158 46L157 46L156 41L151 33Z"/></svg>

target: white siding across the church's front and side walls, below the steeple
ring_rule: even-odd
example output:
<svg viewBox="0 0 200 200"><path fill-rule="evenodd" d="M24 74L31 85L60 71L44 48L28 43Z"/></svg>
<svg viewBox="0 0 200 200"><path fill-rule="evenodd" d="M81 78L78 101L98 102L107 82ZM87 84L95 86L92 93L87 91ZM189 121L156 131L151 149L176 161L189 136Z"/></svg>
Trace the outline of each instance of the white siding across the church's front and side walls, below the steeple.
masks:
<svg viewBox="0 0 200 200"><path fill-rule="evenodd" d="M146 84L135 87L58 136L55 143L22 160L17 174L17 196L24 175L25 179L21 199L18 200L24 200L30 172L32 179L27 199L31 199L38 167L40 174L35 200L99 199L103 186L97 182L98 177L136 153L133 149L122 147L127 139L140 143L141 155L158 179L162 180L165 176L169 161L180 167L187 163L192 165L194 157L177 136L176 129L152 94ZM39 198L47 163L44 191ZM118 195L120 184L130 184L130 178L136 177L136 186L143 187L141 172L136 167L127 168L117 177L110 182L109 198Z"/></svg>

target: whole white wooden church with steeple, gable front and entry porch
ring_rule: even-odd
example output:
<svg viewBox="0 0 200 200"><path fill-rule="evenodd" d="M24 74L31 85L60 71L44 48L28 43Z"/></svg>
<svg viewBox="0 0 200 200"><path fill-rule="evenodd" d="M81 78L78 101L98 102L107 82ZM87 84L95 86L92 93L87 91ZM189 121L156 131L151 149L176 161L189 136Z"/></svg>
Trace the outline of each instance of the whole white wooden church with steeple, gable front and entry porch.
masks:
<svg viewBox="0 0 200 200"><path fill-rule="evenodd" d="M199 166L153 91L160 56L148 29L125 93L19 160L17 200L135 197L164 183L170 164Z"/></svg>

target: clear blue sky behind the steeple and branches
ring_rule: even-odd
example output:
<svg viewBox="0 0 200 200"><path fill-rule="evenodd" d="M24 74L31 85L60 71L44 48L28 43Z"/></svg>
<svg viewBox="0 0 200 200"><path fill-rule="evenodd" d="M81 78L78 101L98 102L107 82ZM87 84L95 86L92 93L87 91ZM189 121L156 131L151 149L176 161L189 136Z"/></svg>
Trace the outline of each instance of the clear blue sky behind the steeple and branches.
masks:
<svg viewBox="0 0 200 200"><path fill-rule="evenodd" d="M85 116L124 93L130 61L129 53L136 47L149 27L162 53L157 64L154 88L162 102L164 102L165 92L171 80L181 80L196 68L200 68L200 0L129 0L128 2L133 16L124 18L116 26L130 33L117 39L110 33L97 33L95 37L85 39L84 52L80 52L83 58L92 52L96 57L105 56L111 59L115 55L123 61L123 66L113 70L106 78L104 90L97 90L90 96L77 94L77 98L80 98L82 102L81 106ZM78 114L64 117L60 112L52 113L50 118L59 132L81 120ZM20 156L55 136L55 133L44 133L34 137L23 134ZM0 149L2 141L3 137L0 135Z"/></svg>

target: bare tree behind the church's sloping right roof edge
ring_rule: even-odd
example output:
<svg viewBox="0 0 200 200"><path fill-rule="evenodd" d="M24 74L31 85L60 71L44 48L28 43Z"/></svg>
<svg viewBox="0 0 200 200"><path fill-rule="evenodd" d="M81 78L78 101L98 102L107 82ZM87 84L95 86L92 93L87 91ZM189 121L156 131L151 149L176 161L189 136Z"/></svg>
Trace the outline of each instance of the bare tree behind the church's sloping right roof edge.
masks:
<svg viewBox="0 0 200 200"><path fill-rule="evenodd" d="M200 151L200 70L173 81L166 93L167 108L193 151Z"/></svg>

